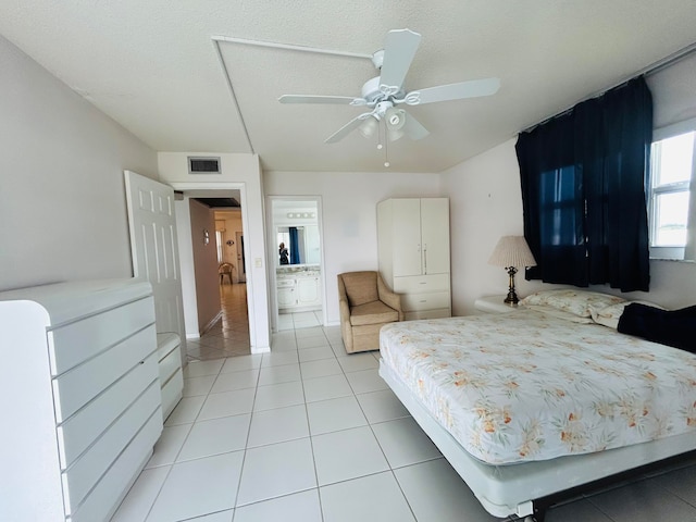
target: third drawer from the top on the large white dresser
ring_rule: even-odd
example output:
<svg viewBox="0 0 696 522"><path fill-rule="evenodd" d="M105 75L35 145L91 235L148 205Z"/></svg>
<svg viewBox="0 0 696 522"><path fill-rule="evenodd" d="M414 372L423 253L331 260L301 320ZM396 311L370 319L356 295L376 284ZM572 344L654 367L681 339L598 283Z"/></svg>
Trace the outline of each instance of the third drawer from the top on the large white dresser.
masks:
<svg viewBox="0 0 696 522"><path fill-rule="evenodd" d="M71 465L156 381L156 375L157 356L152 353L58 426L61 469Z"/></svg>

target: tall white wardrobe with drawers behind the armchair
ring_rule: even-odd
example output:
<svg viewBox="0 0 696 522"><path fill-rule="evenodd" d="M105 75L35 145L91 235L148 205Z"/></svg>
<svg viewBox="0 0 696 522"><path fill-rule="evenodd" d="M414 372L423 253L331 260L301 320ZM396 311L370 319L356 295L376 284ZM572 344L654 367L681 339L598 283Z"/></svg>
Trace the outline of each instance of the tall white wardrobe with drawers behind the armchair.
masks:
<svg viewBox="0 0 696 522"><path fill-rule="evenodd" d="M380 273L401 294L406 319L449 318L449 199L393 198L377 203Z"/></svg>

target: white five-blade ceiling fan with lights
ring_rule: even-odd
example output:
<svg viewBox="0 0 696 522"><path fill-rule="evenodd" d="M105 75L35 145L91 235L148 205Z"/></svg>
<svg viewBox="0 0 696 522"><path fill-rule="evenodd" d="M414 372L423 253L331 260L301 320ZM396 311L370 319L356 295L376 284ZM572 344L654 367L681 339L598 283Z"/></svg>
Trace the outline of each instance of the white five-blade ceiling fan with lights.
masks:
<svg viewBox="0 0 696 522"><path fill-rule="evenodd" d="M394 141L403 135L411 139L422 139L430 134L415 117L398 105L402 103L423 105L438 101L490 96L500 88L498 78L486 78L407 91L403 79L420 41L421 35L410 29L390 30L384 49L372 55L372 63L380 71L380 76L369 79L362 86L361 97L283 95L278 101L281 103L336 103L369 109L326 138L324 141L326 144L340 141L356 128L360 128L363 136L370 137L377 130L380 122L384 122L387 137Z"/></svg>

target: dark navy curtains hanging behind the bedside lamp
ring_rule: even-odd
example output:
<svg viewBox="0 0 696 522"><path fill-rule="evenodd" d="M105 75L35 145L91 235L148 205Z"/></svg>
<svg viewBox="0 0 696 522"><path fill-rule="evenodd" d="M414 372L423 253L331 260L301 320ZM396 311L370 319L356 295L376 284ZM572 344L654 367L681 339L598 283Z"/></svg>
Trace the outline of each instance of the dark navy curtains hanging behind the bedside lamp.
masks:
<svg viewBox="0 0 696 522"><path fill-rule="evenodd" d="M527 279L648 290L652 99L641 76L519 136Z"/></svg>

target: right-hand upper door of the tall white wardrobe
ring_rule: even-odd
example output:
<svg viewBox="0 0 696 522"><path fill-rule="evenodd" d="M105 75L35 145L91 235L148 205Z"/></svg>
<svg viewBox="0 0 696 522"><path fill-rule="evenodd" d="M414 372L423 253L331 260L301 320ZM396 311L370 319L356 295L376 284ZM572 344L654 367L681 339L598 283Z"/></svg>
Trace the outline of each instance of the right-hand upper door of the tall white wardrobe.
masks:
<svg viewBox="0 0 696 522"><path fill-rule="evenodd" d="M423 273L449 273L449 199L421 199Z"/></svg>

